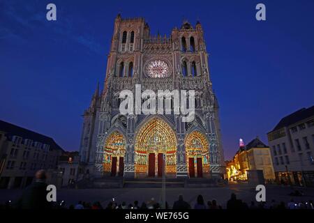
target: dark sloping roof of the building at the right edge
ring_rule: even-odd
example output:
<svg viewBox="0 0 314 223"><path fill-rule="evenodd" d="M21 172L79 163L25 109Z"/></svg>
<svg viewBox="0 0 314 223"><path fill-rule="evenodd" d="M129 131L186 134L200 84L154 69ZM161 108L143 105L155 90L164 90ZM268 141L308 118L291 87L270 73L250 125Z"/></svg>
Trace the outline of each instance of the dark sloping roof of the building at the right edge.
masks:
<svg viewBox="0 0 314 223"><path fill-rule="evenodd" d="M314 105L307 109L304 107L302 109L299 109L297 112L294 112L288 116L285 116L284 118L281 118L281 121L279 121L279 123L275 126L274 130L271 130L271 132L281 129L285 126L292 125L293 123L297 123L311 116L314 116Z"/></svg>

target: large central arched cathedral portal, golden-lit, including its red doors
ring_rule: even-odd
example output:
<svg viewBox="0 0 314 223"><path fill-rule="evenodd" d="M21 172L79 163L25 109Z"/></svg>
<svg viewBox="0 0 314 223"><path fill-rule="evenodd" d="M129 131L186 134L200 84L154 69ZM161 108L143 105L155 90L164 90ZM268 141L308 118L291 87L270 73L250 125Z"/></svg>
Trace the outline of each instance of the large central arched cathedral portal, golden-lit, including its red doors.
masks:
<svg viewBox="0 0 314 223"><path fill-rule="evenodd" d="M135 176L163 176L164 164L165 174L175 177L177 137L169 124L154 117L140 128L135 138Z"/></svg>

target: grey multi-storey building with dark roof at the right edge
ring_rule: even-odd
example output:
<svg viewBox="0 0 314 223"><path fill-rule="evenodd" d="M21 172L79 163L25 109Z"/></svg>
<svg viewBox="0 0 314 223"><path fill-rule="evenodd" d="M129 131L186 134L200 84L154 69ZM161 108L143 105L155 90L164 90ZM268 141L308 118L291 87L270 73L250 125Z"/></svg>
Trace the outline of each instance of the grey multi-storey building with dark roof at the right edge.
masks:
<svg viewBox="0 0 314 223"><path fill-rule="evenodd" d="M285 116L267 136L278 183L314 187L314 106Z"/></svg>

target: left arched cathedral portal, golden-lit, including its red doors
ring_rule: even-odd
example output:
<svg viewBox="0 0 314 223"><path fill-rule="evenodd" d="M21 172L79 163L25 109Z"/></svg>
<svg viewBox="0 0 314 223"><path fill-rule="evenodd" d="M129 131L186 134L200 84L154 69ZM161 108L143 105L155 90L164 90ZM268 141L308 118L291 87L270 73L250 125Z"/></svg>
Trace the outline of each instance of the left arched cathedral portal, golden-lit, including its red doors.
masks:
<svg viewBox="0 0 314 223"><path fill-rule="evenodd" d="M126 153L126 139L118 131L112 132L105 141L103 171L105 175L124 175L124 155Z"/></svg>

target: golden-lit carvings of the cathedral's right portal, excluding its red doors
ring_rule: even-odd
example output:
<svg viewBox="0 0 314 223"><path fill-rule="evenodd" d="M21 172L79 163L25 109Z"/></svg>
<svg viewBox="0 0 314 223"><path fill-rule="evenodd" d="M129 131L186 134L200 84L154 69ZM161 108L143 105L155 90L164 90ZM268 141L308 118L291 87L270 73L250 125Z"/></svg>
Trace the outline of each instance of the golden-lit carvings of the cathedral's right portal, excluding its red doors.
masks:
<svg viewBox="0 0 314 223"><path fill-rule="evenodd" d="M197 157L202 157L203 173L209 173L209 143L205 135L202 132L193 131L186 137L185 145L186 160L188 160L190 157L193 157L196 169ZM189 165L188 162L186 164L187 166Z"/></svg>

